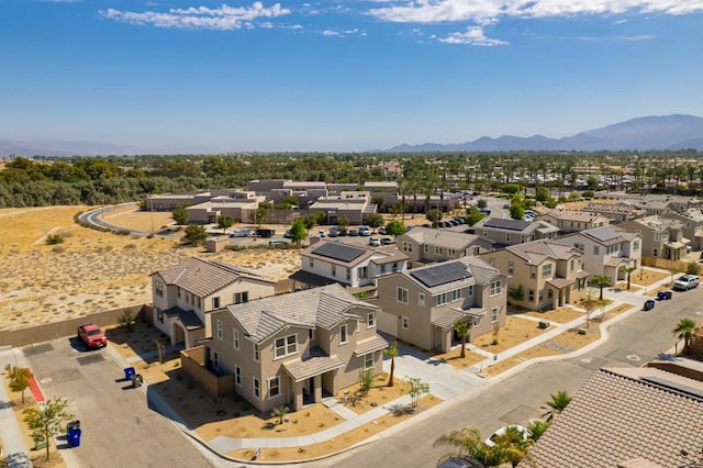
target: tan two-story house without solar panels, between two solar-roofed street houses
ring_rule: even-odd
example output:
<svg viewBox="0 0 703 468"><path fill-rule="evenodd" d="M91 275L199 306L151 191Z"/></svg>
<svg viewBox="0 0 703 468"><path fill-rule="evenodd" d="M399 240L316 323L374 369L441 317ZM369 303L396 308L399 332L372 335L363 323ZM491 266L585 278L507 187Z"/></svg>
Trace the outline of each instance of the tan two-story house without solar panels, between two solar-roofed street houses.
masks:
<svg viewBox="0 0 703 468"><path fill-rule="evenodd" d="M481 255L481 259L507 275L511 291L523 299L511 303L527 309L557 309L587 293L580 249L553 241L533 241Z"/></svg>

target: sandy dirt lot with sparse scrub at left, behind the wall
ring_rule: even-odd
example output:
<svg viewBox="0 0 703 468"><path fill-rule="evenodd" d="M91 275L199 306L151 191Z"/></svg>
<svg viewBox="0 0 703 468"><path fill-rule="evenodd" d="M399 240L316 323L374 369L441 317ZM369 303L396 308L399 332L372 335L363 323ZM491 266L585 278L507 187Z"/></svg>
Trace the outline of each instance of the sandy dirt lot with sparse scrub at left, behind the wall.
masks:
<svg viewBox="0 0 703 468"><path fill-rule="evenodd" d="M32 326L152 302L149 274L190 256L227 261L282 280L300 264L297 249L248 248L219 254L177 241L131 237L81 227L88 207L0 210L0 330ZM164 213L158 223L164 223ZM167 215L168 216L168 215ZM152 213L115 210L105 221L149 231ZM47 234L62 244L46 245Z"/></svg>

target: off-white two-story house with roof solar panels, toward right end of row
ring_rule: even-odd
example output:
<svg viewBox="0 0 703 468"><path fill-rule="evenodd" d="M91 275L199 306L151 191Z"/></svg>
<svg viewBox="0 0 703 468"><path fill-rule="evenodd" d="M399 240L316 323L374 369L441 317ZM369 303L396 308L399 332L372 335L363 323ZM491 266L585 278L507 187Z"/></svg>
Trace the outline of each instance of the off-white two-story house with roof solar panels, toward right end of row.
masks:
<svg viewBox="0 0 703 468"><path fill-rule="evenodd" d="M628 268L635 268L635 272L641 266L641 235L614 226L581 231L553 242L580 249L583 268L591 275L606 276L612 285L626 280Z"/></svg>

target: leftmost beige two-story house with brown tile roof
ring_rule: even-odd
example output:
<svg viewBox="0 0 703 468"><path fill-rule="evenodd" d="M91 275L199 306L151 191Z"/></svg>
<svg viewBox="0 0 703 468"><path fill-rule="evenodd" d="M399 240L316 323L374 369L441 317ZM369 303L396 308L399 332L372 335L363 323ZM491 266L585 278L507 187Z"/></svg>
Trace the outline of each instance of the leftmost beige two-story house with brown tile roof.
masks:
<svg viewBox="0 0 703 468"><path fill-rule="evenodd" d="M154 325L171 344L211 336L207 315L227 304L274 296L276 281L220 261L188 258L152 274Z"/></svg>

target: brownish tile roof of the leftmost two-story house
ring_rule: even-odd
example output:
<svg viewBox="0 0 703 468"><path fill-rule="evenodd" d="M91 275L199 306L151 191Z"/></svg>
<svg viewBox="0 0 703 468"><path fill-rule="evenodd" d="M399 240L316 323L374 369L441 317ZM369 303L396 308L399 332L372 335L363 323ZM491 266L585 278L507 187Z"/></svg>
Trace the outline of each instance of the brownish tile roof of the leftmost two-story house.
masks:
<svg viewBox="0 0 703 468"><path fill-rule="evenodd" d="M196 257L187 258L172 268L158 270L152 275L159 275L167 285L178 286L199 298L210 296L241 278L275 283L244 268Z"/></svg>

